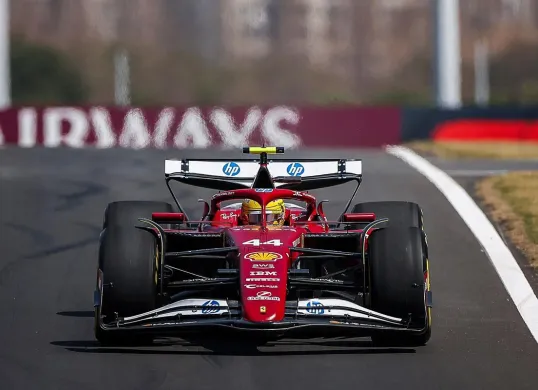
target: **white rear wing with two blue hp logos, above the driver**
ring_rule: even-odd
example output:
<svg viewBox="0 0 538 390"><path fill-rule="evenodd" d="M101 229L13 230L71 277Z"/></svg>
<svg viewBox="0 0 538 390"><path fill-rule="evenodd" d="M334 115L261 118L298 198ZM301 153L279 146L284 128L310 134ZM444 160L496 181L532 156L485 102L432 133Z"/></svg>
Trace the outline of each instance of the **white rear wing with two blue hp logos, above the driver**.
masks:
<svg viewBox="0 0 538 390"><path fill-rule="evenodd" d="M360 159L273 159L267 170L274 187L298 191L326 188L362 179ZM250 188L261 165L251 159L165 160L166 180L229 191Z"/></svg>

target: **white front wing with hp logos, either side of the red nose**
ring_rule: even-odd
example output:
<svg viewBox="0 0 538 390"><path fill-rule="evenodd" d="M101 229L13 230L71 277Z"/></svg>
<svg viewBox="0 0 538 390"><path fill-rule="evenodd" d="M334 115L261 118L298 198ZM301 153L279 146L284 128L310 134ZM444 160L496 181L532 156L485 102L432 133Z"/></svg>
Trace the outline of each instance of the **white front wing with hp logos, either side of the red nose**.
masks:
<svg viewBox="0 0 538 390"><path fill-rule="evenodd" d="M97 306L97 311L99 307ZM97 316L100 318L100 315ZM156 310L131 317L118 318L112 324L99 326L104 331L127 333L155 333L163 336L181 336L183 333L202 330L223 330L301 335L312 333L328 336L369 336L375 332L403 331L423 333L412 328L410 318L396 318L355 303L340 299L309 299L286 302L286 315L278 322L249 322L241 318L238 301L212 299L186 299L160 307Z"/></svg>

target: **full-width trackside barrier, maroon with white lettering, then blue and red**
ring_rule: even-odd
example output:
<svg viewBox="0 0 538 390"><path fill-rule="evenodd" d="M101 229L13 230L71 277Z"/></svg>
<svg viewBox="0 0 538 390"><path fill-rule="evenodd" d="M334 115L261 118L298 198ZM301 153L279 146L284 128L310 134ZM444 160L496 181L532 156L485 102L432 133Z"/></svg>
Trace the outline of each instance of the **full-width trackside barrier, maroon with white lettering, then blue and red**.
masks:
<svg viewBox="0 0 538 390"><path fill-rule="evenodd" d="M19 107L0 111L0 145L354 148L435 139L538 142L538 106Z"/></svg>

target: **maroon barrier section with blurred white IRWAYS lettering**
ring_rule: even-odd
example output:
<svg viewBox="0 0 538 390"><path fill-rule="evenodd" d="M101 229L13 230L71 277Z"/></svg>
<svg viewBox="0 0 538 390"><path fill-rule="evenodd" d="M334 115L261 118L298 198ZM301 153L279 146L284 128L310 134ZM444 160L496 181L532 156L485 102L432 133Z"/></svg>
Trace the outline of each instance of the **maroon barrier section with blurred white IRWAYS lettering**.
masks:
<svg viewBox="0 0 538 390"><path fill-rule="evenodd" d="M379 147L400 142L392 107L24 107L0 112L0 143L19 147Z"/></svg>

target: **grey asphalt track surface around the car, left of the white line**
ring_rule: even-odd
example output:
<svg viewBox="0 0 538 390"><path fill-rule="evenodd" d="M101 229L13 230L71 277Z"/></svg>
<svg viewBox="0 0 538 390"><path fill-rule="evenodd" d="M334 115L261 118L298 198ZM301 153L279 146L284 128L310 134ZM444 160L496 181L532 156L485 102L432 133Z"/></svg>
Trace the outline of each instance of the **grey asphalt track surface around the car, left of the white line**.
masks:
<svg viewBox="0 0 538 390"><path fill-rule="evenodd" d="M316 339L258 350L224 341L212 348L101 348L92 333L92 293L103 210L114 200L170 200L163 159L172 155L0 150L2 389L538 388L538 345L466 225L424 177L372 150L294 155L362 158L357 200L423 207L434 298L427 346L375 349L368 339ZM177 188L191 216L198 215L196 200L212 194ZM351 189L316 194L331 200L327 211L336 218Z"/></svg>

